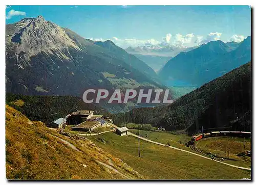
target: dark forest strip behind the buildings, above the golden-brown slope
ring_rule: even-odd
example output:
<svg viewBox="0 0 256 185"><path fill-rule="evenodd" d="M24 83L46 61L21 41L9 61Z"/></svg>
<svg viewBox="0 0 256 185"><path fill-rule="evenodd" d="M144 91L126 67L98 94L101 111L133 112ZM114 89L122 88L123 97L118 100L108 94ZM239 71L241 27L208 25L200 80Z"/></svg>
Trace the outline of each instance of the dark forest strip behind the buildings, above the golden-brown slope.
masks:
<svg viewBox="0 0 256 185"><path fill-rule="evenodd" d="M31 121L42 121L46 124L76 109L95 110L95 114L106 113L106 110L92 103L84 103L81 98L74 96L26 96L8 93L6 104L22 112Z"/></svg>

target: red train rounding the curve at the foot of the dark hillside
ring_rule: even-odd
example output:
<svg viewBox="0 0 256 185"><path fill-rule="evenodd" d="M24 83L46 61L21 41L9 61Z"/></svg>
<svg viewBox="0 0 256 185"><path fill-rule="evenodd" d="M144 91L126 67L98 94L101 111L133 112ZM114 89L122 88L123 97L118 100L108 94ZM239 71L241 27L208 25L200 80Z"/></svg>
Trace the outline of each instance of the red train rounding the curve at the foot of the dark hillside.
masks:
<svg viewBox="0 0 256 185"><path fill-rule="evenodd" d="M202 138L216 137L216 136L229 136L229 137L245 137L250 138L251 133L249 131L211 131L209 133L198 134L191 138L188 144L194 144L196 141Z"/></svg>

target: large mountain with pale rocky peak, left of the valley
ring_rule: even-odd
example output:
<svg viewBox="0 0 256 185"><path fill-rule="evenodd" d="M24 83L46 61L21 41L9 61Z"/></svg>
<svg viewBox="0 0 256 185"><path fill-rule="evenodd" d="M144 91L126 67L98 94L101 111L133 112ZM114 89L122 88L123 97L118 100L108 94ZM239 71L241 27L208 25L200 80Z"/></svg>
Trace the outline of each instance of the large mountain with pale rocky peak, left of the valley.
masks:
<svg viewBox="0 0 256 185"><path fill-rule="evenodd" d="M6 25L6 92L82 96L85 89L165 88L111 41L93 42L42 16Z"/></svg>

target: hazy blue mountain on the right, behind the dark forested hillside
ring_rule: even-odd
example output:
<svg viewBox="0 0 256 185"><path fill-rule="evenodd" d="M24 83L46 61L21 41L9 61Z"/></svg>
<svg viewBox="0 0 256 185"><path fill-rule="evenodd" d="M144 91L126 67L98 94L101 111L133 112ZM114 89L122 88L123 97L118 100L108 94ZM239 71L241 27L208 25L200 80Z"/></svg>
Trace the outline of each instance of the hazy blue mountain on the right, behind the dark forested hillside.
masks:
<svg viewBox="0 0 256 185"><path fill-rule="evenodd" d="M199 87L250 60L250 36L240 43L211 41L170 59L159 71L159 77L167 86L178 81Z"/></svg>

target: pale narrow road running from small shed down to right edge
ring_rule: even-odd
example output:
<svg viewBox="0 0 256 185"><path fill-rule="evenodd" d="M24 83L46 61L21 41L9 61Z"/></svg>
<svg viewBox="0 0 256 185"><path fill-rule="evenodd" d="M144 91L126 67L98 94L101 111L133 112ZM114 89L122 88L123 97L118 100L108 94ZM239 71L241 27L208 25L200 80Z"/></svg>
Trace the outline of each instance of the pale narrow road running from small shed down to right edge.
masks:
<svg viewBox="0 0 256 185"><path fill-rule="evenodd" d="M133 133L130 133L130 131L127 131L127 134L128 135L131 135L133 137L136 137L136 138L139 138L138 135L135 135ZM143 137L140 137L140 139L144 140L144 141L147 141L147 142L150 142L150 143L154 143L154 144L157 144L157 145L161 145L161 146L165 146L165 147L168 147L168 148L173 148L175 150L180 150L180 151L184 151L184 152L187 152L187 153L190 153L190 154L193 154L193 155L197 155L197 156L200 156L200 157L203 157L203 158L207 158L207 160L211 160L211 158L209 157L206 157L206 156L203 156L203 155L200 155L200 154L197 154L197 153L194 153L194 152L191 152L191 151L187 151L187 150L183 150L183 149L180 149L180 148L176 148L176 147L173 147L173 146L168 146L168 145L165 145L165 144L162 144L162 143L158 143L158 142L155 142L155 141L152 141L152 140L148 140L146 138L143 138ZM218 163L222 163L224 165L228 165L228 166L231 166L231 167L234 167L234 168L239 168L239 169L243 169L243 170L251 170L250 168L244 168L244 167L240 167L240 166L236 166L236 165L230 165L230 164L227 164L227 163L223 163L221 161L216 161L214 160L215 162L218 162Z"/></svg>

